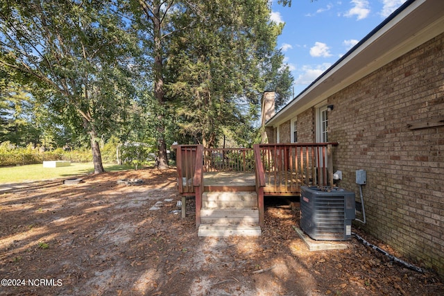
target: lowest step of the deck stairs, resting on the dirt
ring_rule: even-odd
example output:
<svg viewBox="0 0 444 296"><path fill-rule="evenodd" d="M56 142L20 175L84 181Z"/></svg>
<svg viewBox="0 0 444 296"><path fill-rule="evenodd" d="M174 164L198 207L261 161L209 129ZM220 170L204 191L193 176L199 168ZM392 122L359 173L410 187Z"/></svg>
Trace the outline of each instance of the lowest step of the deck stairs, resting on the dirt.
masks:
<svg viewBox="0 0 444 296"><path fill-rule="evenodd" d="M209 225L200 224L198 236L260 236L261 227L258 225Z"/></svg>

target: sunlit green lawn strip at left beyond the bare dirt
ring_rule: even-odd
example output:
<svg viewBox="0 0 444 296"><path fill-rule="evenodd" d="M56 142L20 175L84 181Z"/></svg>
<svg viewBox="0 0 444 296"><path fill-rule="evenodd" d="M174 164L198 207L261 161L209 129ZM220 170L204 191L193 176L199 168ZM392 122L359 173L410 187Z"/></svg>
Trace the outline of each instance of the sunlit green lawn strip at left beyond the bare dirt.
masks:
<svg viewBox="0 0 444 296"><path fill-rule="evenodd" d="M133 169L133 166L117 164L103 164L105 171L124 171ZM50 180L76 175L86 175L94 172L94 165L88 163L71 163L71 166L59 168L44 168L42 164L29 164L27 166L0 167L0 184L21 183L38 180Z"/></svg>

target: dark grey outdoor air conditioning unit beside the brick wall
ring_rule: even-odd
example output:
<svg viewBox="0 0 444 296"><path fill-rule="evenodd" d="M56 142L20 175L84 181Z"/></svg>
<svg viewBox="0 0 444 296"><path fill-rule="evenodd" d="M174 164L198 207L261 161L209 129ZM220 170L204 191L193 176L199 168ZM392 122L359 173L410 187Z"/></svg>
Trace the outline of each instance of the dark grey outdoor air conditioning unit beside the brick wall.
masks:
<svg viewBox="0 0 444 296"><path fill-rule="evenodd" d="M339 187L301 186L300 228L314 240L346 241L355 219L355 193Z"/></svg>

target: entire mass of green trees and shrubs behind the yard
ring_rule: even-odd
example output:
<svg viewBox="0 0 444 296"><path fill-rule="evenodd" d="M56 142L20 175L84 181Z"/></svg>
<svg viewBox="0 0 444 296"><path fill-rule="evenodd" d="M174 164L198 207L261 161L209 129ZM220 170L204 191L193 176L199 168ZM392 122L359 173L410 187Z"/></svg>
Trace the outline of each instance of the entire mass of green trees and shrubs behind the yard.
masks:
<svg viewBox="0 0 444 296"><path fill-rule="evenodd" d="M251 146L262 92L290 94L282 28L262 0L1 3L0 143L15 148L0 164L119 163L122 143L222 135ZM129 150L135 166L148 153Z"/></svg>

